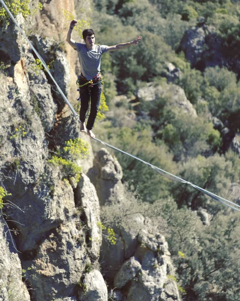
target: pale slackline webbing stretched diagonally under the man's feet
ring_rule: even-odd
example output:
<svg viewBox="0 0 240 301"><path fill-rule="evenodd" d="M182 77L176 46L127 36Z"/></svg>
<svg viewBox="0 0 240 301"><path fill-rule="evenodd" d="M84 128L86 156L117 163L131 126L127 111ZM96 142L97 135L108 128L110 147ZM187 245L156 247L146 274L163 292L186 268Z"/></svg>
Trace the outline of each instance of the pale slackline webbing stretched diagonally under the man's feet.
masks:
<svg viewBox="0 0 240 301"><path fill-rule="evenodd" d="M11 19L14 21L14 23L16 24L16 26L19 28L20 32L21 32L22 35L25 37L25 39L27 40L28 44L29 44L30 47L33 49L33 51L35 52L35 54L37 55L37 57L39 58L39 60L41 61L41 63L43 64L45 70L48 72L49 76L51 77L51 79L53 80L53 82L55 83L55 85L57 86L57 88L58 88L60 94L62 95L62 97L63 97L63 99L64 99L64 101L67 103L67 105L69 106L70 110L71 110L72 113L74 114L74 117L80 122L80 120L79 120L79 118L78 118L78 114L76 113L76 111L75 111L74 108L72 107L71 103L68 101L67 97L64 95L63 91L62 91L61 88L59 87L59 85L58 85L58 83L56 82L56 80L54 79L54 77L52 76L52 74L51 74L51 72L49 71L49 69L48 69L46 63L44 62L44 60L42 59L42 57L40 56L40 54L37 52L37 50L35 49L35 47L31 44L30 40L29 40L28 37L25 35L24 31L22 30L22 28L20 27L20 25L18 24L18 22L16 21L16 19L14 18L14 16L13 16L12 13L10 12L10 10L8 9L8 7L6 6L5 2L4 2L3 0L0 0L0 2L2 3L3 7L4 7L5 10L7 11L7 13L8 13L9 16L11 17ZM188 181L185 181L185 180L183 180L183 179L181 179L181 178L179 178L179 177L177 177L177 176L174 176L174 175L172 175L172 174L170 174L170 173L168 173L168 172L166 172L166 171L164 171L164 170L162 170L162 169L160 169L160 168L158 168L158 167L156 167L156 166L154 166L154 165L152 165L152 164L150 164L150 163L148 163L148 162L146 162L146 161L143 161L143 160L141 160L141 159L138 158L138 157L135 157L135 156L133 156L133 155L131 155L131 154L128 154L128 153L124 152L123 150L121 150L121 149L119 149L119 148L117 148L117 147L115 147L115 146L112 146L112 145L110 145L110 144L108 144L108 143L106 143L106 142L104 142L104 141L102 141L102 140L100 140L100 139L97 139L97 138L93 138L93 139L96 140L96 141L101 142L102 144L104 144L104 145L106 145L106 146L108 146L108 147L110 147L110 148L112 148L112 149L117 150L118 152L120 152L120 153L122 153L122 154L125 154L125 155L127 155L127 156L130 156L130 157L132 157L132 158L134 158L134 159L136 159L136 160L138 160L138 161L140 161L140 162L146 164L147 166L151 167L154 171L156 171L157 173L161 174L161 175L164 176L164 177L167 177L167 178L170 179L170 180L173 180L173 181L176 181L176 182L180 182L180 183L183 183L183 184L189 184L189 185L192 186L193 188L195 188L195 189L197 189L197 190L199 190L199 191L205 193L207 196L211 197L212 199L216 200L217 202L219 202L219 203L221 203L221 204L223 204L223 205L225 205L225 206L227 206L227 207L229 207L229 208L231 208L231 209L233 209L233 210L236 210L236 211L240 212L240 209L238 209L238 208L240 208L240 206L237 205L237 204L235 204L235 203L233 203L233 202L230 202L230 201L228 201L228 200L226 200L226 199L224 199L224 198L222 198L222 197L219 197L219 196L217 196L217 195L215 195L215 194L213 194L213 193L211 193L211 192L209 192L209 191L207 191L207 190L205 190L205 189L203 189L203 188L201 188L201 187L198 187L198 186L196 186L196 185L194 185L194 184L192 184L192 183L190 183L190 182L188 182ZM238 207L238 208L236 208L236 207L234 207L234 206L236 206L236 207Z"/></svg>

